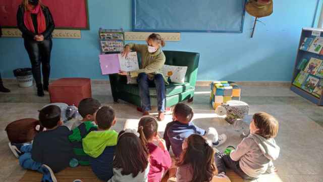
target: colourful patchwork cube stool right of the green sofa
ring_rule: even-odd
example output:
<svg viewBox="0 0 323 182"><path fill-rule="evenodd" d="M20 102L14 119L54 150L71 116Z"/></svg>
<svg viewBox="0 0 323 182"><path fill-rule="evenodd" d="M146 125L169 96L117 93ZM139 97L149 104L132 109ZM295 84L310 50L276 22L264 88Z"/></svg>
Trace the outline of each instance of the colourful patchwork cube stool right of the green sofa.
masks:
<svg viewBox="0 0 323 182"><path fill-rule="evenodd" d="M213 81L211 83L210 103L217 109L222 103L240 101L241 88L233 81Z"/></svg>

